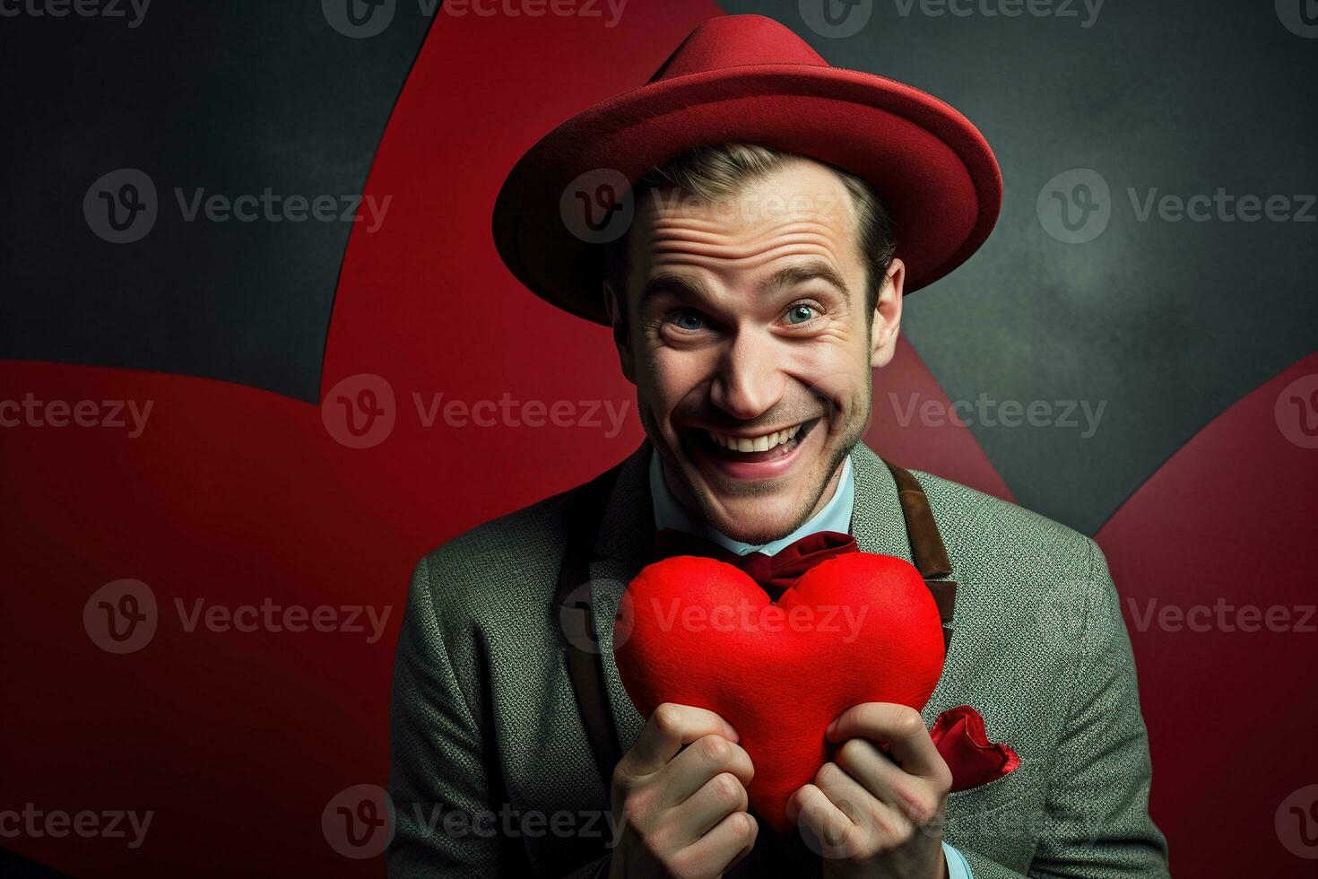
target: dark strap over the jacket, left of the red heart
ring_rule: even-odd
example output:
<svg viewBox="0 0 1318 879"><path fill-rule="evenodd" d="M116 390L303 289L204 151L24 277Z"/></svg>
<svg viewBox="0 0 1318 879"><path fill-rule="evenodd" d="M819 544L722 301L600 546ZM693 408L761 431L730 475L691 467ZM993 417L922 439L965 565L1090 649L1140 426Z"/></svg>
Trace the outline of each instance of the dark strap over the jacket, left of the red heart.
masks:
<svg viewBox="0 0 1318 879"><path fill-rule="evenodd" d="M600 767L606 793L613 781L613 767L622 758L622 749L618 745L618 730L609 714L600 643L594 637L594 611L590 608L590 546L600 530L605 506L621 469L619 464L601 473L576 497L568 522L567 550L563 553L555 590L568 680L572 681L585 737L590 743L596 766Z"/></svg>

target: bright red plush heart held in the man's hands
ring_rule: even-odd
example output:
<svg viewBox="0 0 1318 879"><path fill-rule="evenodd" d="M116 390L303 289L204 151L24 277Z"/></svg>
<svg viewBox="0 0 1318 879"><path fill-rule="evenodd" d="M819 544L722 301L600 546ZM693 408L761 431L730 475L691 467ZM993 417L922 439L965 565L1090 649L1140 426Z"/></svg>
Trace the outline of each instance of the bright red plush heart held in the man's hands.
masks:
<svg viewBox="0 0 1318 879"><path fill-rule="evenodd" d="M944 643L933 596L903 559L849 552L771 602L730 564L675 556L627 585L614 655L643 717L677 702L733 725L755 764L751 808L788 833L787 799L828 759L829 722L861 702L923 709Z"/></svg>

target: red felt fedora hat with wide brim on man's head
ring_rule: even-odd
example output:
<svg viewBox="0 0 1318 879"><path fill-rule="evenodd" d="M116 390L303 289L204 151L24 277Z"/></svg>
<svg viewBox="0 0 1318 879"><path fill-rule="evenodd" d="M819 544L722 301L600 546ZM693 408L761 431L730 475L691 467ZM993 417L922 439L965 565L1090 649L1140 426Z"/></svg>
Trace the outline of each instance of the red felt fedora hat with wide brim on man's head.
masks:
<svg viewBox="0 0 1318 879"><path fill-rule="evenodd" d="M772 18L720 16L648 83L577 113L518 159L494 203L494 245L532 293L608 324L602 242L630 221L630 186L721 142L808 156L874 186L896 225L907 291L965 262L1002 206L992 150L952 107L833 67Z"/></svg>

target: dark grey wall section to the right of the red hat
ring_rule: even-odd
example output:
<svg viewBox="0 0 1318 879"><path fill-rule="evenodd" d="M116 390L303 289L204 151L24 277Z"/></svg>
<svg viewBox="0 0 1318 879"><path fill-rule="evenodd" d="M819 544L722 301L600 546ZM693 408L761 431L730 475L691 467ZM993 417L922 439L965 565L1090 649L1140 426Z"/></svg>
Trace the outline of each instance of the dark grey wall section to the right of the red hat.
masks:
<svg viewBox="0 0 1318 879"><path fill-rule="evenodd" d="M942 98L1002 165L992 237L907 300L904 329L948 395L1106 403L1089 439L971 418L1021 505L1093 534L1217 414L1318 349L1318 3L1107 0L1095 17L1056 0L1035 7L1053 14L1010 18L983 12L1010 0L873 0L851 9L850 28L869 11L857 33L828 37L807 24L820 1L722 5ZM1050 236L1036 210L1072 169L1110 188L1108 224L1082 244ZM1284 195L1309 219L1165 221L1155 208L1140 221L1131 188L1141 210L1152 190Z"/></svg>

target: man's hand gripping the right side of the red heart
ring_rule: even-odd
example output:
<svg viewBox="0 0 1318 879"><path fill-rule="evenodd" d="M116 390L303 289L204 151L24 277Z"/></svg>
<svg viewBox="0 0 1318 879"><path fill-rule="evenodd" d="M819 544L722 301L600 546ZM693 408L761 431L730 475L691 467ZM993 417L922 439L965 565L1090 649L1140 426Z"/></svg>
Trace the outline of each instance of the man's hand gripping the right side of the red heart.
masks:
<svg viewBox="0 0 1318 879"><path fill-rule="evenodd" d="M787 813L820 839L825 876L944 879L942 817L952 771L920 713L865 702L828 729L841 742L813 784L787 801ZM879 750L890 746L891 756Z"/></svg>

